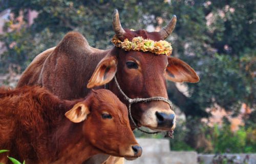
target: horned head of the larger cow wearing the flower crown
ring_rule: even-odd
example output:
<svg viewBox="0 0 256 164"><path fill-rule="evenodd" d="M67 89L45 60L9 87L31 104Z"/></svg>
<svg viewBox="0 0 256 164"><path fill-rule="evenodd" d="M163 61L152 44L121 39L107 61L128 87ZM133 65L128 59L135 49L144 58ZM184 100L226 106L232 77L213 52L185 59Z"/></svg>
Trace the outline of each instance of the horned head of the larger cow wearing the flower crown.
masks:
<svg viewBox="0 0 256 164"><path fill-rule="evenodd" d="M113 16L113 27L117 37L132 40L143 37L154 41L164 40L175 28L176 16L160 31L146 32L145 30L131 31L122 29L117 10ZM197 73L180 59L163 54L142 51L125 51L114 47L96 67L88 88L109 83L116 75L123 92L130 98L164 97L168 98L165 79L175 82L196 83L199 81ZM110 89L123 101L123 96L117 90L114 80L110 82ZM163 101L150 101L132 105L132 116L138 125L157 130L175 128L175 113ZM131 124L132 125L132 124Z"/></svg>

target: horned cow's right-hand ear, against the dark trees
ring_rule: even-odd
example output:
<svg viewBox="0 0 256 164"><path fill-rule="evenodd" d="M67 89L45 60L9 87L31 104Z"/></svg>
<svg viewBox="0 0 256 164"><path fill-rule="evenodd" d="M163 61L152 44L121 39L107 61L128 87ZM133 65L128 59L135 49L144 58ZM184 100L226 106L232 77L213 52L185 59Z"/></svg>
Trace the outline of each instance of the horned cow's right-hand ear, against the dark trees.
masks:
<svg viewBox="0 0 256 164"><path fill-rule="evenodd" d="M168 66L165 73L166 79L174 82L197 83L199 77L195 70L178 58L168 57Z"/></svg>

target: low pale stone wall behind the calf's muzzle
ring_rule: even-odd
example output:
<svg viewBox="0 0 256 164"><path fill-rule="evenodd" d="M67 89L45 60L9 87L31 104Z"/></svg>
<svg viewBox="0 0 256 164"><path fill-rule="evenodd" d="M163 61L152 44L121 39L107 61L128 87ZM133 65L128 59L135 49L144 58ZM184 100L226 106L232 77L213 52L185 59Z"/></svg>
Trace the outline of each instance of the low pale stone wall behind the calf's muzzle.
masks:
<svg viewBox="0 0 256 164"><path fill-rule="evenodd" d="M137 139L142 147L142 156L136 160L125 160L125 164L211 164L215 154L197 154L195 151L170 151L167 139ZM234 158L238 164L245 164L244 159L249 155L246 164L256 164L256 154L226 154L227 158Z"/></svg>

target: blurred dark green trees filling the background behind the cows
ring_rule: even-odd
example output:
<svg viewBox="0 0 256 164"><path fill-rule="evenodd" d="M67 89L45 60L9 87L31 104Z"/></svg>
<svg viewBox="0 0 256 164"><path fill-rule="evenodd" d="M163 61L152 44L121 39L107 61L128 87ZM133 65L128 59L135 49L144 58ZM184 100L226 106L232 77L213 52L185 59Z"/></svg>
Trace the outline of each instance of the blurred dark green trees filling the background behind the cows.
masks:
<svg viewBox="0 0 256 164"><path fill-rule="evenodd" d="M170 88L173 83L168 84L170 99L187 119L196 122L185 124L187 133L177 128L176 132L186 134L176 134L182 136L175 138L180 148L195 148L193 142L196 139L189 138L196 134L193 128L200 128L196 127L200 118L209 116L205 111L207 107L219 105L234 114L239 112L242 103L255 109L254 0L0 0L0 12L8 8L16 16L20 11L26 15L29 10L37 11L38 16L31 26L25 17L21 28L13 31L9 30L10 26L17 20L7 22L6 33L0 35L0 41L7 48L0 56L0 73L10 69L21 73L37 54L56 46L67 32L73 30L82 33L93 47L110 48L114 35L114 9L119 11L123 28L135 30L146 29L148 25L164 26L173 14L177 15L176 28L167 41L173 45L173 56L187 62L200 76L199 83L186 84L189 96L183 101L181 96L184 95L174 93ZM161 19L163 23L159 21ZM255 129L255 116L251 114L250 120L246 125ZM244 136L242 132L236 135L239 139ZM186 143L182 145L184 140ZM218 149L222 150L222 146Z"/></svg>

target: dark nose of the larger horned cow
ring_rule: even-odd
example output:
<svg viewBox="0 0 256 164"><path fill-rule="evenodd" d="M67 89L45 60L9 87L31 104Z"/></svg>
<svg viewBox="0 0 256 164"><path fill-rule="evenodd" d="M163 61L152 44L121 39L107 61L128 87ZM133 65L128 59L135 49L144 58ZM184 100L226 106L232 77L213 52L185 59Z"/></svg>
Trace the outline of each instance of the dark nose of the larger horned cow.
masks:
<svg viewBox="0 0 256 164"><path fill-rule="evenodd" d="M175 123L175 114L156 112L158 128L172 128Z"/></svg>

